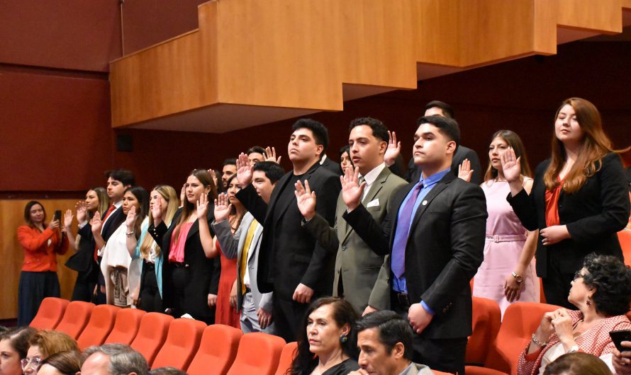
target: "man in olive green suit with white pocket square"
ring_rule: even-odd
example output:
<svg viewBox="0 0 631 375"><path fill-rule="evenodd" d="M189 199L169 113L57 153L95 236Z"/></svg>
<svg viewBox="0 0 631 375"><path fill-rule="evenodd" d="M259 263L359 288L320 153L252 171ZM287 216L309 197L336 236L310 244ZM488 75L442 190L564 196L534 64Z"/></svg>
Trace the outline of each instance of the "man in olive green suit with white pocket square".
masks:
<svg viewBox="0 0 631 375"><path fill-rule="evenodd" d="M350 124L349 146L353 164L366 185L362 204L380 223L389 210L390 196L406 185L405 180L391 173L384 164L389 148L388 129L374 118L355 119ZM354 171L346 173L352 175ZM330 228L328 221L315 213L315 192L309 190L308 184L296 183L298 209L305 217L303 227L313 234L320 246L337 252L334 296L349 301L358 313L387 309L390 307L388 262L384 262L383 255L374 253L342 219L347 210L343 193L337 198L335 228Z"/></svg>

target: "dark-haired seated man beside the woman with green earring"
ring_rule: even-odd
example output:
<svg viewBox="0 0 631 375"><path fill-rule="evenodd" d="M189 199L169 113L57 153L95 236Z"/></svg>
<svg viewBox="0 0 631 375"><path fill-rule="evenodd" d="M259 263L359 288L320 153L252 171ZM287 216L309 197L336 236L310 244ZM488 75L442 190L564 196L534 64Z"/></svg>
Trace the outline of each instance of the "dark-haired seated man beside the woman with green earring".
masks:
<svg viewBox="0 0 631 375"><path fill-rule="evenodd" d="M412 328L398 313L369 313L356 326L361 369L349 375L433 374L429 367L412 362Z"/></svg>

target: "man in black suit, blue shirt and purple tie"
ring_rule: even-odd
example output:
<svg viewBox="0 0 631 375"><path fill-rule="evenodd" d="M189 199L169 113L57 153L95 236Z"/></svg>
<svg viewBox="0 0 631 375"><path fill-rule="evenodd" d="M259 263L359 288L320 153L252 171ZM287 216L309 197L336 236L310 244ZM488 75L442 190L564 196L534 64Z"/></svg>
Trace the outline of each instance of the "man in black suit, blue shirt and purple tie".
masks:
<svg viewBox="0 0 631 375"><path fill-rule="evenodd" d="M423 173L393 195L383 231L359 204L357 175L344 181L344 217L376 253L391 255L391 304L416 333L414 362L463 373L469 280L483 260L486 200L479 186L450 172L460 138L455 120L421 117L414 137L414 163Z"/></svg>

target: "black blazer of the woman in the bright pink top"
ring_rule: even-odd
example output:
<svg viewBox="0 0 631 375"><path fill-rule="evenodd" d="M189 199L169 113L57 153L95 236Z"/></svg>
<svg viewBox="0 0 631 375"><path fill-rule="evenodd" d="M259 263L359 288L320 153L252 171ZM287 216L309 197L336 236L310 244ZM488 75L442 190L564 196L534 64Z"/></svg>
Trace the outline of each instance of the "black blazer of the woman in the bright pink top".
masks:
<svg viewBox="0 0 631 375"><path fill-rule="evenodd" d="M206 219L208 227L211 229L211 234L214 236L213 227L211 226L214 220L213 211L213 205L209 204ZM160 245L162 256L164 257L162 265L162 304L164 308L174 307L171 278L174 265L169 263L169 250L171 248L171 236L181 214L182 209L180 208L173 217L171 226L168 229L167 225L162 221L160 225L150 226L147 230L147 233ZM189 284L184 288L184 306L179 306L182 308L182 311L175 311L175 313L189 313L197 320L212 322L215 312L208 307L208 294L217 294L221 263L218 256L213 259L206 258L199 238L199 221L194 222L188 236L186 236L184 268L189 272Z"/></svg>

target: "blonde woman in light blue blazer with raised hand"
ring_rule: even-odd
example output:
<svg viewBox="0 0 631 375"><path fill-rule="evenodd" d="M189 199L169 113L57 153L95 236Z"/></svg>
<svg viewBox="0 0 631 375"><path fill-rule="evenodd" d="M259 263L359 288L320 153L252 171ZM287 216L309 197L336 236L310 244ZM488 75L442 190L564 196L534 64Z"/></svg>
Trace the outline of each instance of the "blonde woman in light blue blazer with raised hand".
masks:
<svg viewBox="0 0 631 375"><path fill-rule="evenodd" d="M177 212L179 198L175 189L168 185L157 185L151 190L149 197L151 215L147 218L146 223L143 222L138 239L136 236L127 237L127 249L133 260L140 259L142 261L138 308L147 312L162 313L164 311L162 306L163 252L153 237L147 236L147 228L155 222L154 215L160 217L160 221L164 221L167 227L170 226ZM134 222L135 218L130 218L130 223Z"/></svg>

